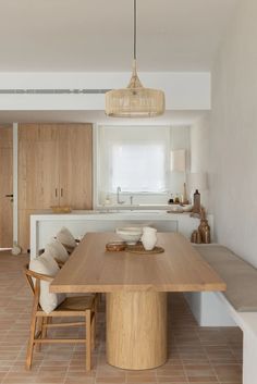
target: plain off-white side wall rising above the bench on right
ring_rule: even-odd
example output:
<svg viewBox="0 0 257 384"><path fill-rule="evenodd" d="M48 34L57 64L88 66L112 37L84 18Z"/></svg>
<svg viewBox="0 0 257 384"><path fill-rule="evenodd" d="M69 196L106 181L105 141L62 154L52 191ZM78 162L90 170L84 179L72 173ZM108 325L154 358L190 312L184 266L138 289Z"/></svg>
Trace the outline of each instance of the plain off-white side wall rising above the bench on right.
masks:
<svg viewBox="0 0 257 384"><path fill-rule="evenodd" d="M238 7L212 71L210 200L218 241L257 267L257 1Z"/></svg>

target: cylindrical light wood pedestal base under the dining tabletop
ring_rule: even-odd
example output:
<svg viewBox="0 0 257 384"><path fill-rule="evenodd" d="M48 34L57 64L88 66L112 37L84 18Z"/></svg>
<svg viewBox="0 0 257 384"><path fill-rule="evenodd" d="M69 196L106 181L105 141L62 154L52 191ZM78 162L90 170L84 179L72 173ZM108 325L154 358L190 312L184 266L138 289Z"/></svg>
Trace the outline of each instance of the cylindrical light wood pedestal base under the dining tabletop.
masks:
<svg viewBox="0 0 257 384"><path fill-rule="evenodd" d="M144 370L167 360L167 294L107 294L107 361L114 367Z"/></svg>

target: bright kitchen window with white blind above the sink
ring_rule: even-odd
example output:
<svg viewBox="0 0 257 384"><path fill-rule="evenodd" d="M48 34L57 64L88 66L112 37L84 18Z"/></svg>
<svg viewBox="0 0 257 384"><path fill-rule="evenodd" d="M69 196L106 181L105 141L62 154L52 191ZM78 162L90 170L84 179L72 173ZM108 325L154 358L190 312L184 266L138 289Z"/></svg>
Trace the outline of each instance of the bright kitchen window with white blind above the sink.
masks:
<svg viewBox="0 0 257 384"><path fill-rule="evenodd" d="M101 127L99 133L101 190L167 190L169 127Z"/></svg>

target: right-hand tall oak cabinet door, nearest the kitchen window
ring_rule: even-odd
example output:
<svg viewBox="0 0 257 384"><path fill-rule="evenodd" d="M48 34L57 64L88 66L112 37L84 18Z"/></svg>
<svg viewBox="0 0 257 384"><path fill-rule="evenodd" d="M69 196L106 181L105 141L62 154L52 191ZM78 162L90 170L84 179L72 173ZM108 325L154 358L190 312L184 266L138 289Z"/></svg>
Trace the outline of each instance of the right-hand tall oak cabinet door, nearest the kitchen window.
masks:
<svg viewBox="0 0 257 384"><path fill-rule="evenodd" d="M91 209L91 124L59 127L60 205Z"/></svg>

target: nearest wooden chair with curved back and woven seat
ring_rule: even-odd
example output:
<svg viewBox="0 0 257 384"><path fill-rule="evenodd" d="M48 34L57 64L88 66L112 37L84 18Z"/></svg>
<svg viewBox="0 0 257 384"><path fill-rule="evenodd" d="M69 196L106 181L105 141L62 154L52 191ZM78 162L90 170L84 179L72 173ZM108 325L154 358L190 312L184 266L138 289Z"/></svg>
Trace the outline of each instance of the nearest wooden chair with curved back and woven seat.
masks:
<svg viewBox="0 0 257 384"><path fill-rule="evenodd" d="M86 370L91 369L91 348L95 347L96 332L96 295L68 297L52 312L46 313L40 305L40 281L51 283L53 277L39 274L24 268L25 276L30 290L34 295L30 333L27 345L26 369L29 370L33 360L34 346L37 345L40 349L41 344L47 343L85 343L86 346ZM35 283L33 282L35 280ZM84 321L74 321L66 323L52 323L53 318L74 318L83 317ZM47 338L47 330L53 327L65 326L85 326L85 338Z"/></svg>

